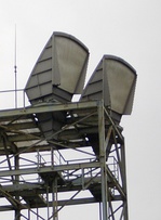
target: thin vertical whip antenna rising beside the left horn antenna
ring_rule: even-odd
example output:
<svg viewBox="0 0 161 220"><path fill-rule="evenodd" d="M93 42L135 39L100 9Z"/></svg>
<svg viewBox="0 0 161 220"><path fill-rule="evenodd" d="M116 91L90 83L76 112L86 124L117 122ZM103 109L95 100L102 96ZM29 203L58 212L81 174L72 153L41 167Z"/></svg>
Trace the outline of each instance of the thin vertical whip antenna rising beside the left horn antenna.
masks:
<svg viewBox="0 0 161 220"><path fill-rule="evenodd" d="M14 41L14 91L15 91L15 107L17 107L17 65L16 65L16 56L17 56L17 54L16 54L16 25L15 25L15 41Z"/></svg>

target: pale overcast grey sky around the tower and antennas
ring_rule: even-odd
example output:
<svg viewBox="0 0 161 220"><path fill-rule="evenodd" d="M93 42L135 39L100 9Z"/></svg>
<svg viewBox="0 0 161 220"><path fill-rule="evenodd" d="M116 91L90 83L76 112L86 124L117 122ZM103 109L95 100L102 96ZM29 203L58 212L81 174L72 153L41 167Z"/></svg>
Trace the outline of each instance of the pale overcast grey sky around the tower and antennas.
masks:
<svg viewBox="0 0 161 220"><path fill-rule="evenodd" d="M136 69L133 113L122 120L129 215L130 220L160 220L161 1L0 0L0 90L14 89L15 24L18 88L25 87L53 31L71 34L89 48L88 76L103 54L120 56ZM10 105L14 102L0 95L0 108ZM83 208L78 210L77 220L98 219L95 206L86 210L86 218ZM71 208L66 219L76 219Z"/></svg>

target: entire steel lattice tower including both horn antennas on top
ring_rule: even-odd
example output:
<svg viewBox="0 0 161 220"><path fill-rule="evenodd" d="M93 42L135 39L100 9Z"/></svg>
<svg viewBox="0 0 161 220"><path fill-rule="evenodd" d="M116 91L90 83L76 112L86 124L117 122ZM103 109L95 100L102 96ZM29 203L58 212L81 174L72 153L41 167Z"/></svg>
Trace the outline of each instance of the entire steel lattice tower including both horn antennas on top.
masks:
<svg viewBox="0 0 161 220"><path fill-rule="evenodd" d="M99 220L129 219L120 121L136 72L104 55L84 88L88 62L81 41L53 33L25 87L30 105L0 111L0 212L14 220L62 220L63 208L94 203Z"/></svg>

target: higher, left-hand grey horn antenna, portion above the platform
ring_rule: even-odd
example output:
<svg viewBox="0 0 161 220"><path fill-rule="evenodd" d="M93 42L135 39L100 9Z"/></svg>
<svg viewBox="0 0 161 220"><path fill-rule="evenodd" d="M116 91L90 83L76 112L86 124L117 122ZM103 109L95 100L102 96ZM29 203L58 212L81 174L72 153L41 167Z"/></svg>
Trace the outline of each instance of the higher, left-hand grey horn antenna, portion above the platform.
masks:
<svg viewBox="0 0 161 220"><path fill-rule="evenodd" d="M73 36L53 33L27 81L31 103L69 102L81 94L89 60L88 48Z"/></svg>

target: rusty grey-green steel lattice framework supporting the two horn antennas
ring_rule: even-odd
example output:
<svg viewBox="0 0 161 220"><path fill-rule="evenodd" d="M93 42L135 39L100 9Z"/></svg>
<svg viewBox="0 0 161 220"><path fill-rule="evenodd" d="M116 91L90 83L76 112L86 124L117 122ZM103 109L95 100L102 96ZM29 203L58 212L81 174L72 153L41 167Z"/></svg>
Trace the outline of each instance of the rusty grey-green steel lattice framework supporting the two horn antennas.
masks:
<svg viewBox="0 0 161 220"><path fill-rule="evenodd" d="M45 113L66 115L49 138L37 118ZM91 203L99 220L128 220L124 138L103 101L0 111L0 212L15 220L57 220L64 207Z"/></svg>

